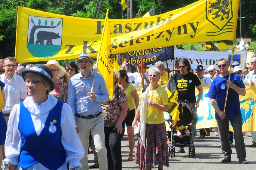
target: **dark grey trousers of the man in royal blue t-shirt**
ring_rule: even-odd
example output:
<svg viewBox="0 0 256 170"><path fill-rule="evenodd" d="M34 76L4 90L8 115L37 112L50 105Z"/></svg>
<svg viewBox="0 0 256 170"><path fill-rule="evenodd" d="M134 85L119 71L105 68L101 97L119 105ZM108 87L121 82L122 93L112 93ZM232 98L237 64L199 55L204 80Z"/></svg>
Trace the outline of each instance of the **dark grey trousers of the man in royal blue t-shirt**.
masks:
<svg viewBox="0 0 256 170"><path fill-rule="evenodd" d="M232 150L229 143L228 132L229 132L229 121L234 130L235 136L235 148L237 158L246 158L245 142L242 133L242 116L225 117L225 119L217 119L219 135L221 140L221 150L224 157L231 157Z"/></svg>

